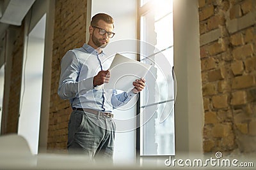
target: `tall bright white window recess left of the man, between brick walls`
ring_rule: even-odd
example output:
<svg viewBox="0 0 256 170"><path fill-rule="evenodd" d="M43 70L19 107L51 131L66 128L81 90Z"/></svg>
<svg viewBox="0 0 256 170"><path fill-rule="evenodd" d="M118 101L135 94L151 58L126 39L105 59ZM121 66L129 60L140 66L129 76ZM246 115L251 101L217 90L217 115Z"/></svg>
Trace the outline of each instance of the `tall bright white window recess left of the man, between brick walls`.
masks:
<svg viewBox="0 0 256 170"><path fill-rule="evenodd" d="M28 52L24 52L20 117L18 134L29 143L31 152L38 153L42 76L44 66L45 18L38 22L28 38Z"/></svg>

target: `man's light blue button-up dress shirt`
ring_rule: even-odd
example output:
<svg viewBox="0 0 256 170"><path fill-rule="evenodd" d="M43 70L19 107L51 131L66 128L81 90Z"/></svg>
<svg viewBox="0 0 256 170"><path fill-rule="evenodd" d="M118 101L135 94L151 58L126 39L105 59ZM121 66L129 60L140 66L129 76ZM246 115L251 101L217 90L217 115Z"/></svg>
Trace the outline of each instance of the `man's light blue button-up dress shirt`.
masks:
<svg viewBox="0 0 256 170"><path fill-rule="evenodd" d="M118 94L116 90L93 87L93 77L109 69L112 60L87 44L69 50L61 59L58 95L61 99L69 99L73 109L112 112L128 103L136 95L132 91Z"/></svg>

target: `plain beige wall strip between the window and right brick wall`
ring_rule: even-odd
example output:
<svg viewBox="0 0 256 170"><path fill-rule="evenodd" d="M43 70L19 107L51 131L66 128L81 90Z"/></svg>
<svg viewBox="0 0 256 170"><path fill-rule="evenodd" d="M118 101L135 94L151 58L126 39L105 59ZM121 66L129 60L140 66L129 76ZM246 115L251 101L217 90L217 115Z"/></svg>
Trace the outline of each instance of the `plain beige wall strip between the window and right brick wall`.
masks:
<svg viewBox="0 0 256 170"><path fill-rule="evenodd" d="M197 0L173 1L174 63L177 78L175 143L180 153L202 153L203 97Z"/></svg>

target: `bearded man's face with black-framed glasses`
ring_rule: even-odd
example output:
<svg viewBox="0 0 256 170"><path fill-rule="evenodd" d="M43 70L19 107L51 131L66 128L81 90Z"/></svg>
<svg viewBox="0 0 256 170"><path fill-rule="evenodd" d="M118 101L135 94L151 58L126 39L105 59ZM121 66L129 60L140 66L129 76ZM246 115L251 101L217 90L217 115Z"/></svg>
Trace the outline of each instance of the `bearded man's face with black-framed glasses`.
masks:
<svg viewBox="0 0 256 170"><path fill-rule="evenodd" d="M113 32L113 24L108 24L103 20L99 20L96 26L97 27L93 27L92 41L97 48L105 48L109 43L108 33L101 35L99 31L100 29L104 29L107 32Z"/></svg>

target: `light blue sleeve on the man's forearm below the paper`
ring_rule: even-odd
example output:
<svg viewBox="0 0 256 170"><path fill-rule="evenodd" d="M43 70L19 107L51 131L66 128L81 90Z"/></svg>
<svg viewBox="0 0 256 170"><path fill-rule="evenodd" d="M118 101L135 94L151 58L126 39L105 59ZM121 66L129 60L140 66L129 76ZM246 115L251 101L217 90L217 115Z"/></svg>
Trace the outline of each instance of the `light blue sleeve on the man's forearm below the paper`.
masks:
<svg viewBox="0 0 256 170"><path fill-rule="evenodd" d="M122 92L122 93L118 94L116 90L113 90L113 94L111 97L111 104L113 105L113 109L118 108L120 106L124 106L134 96L136 96L136 94L134 94L132 91L130 91L128 93Z"/></svg>

